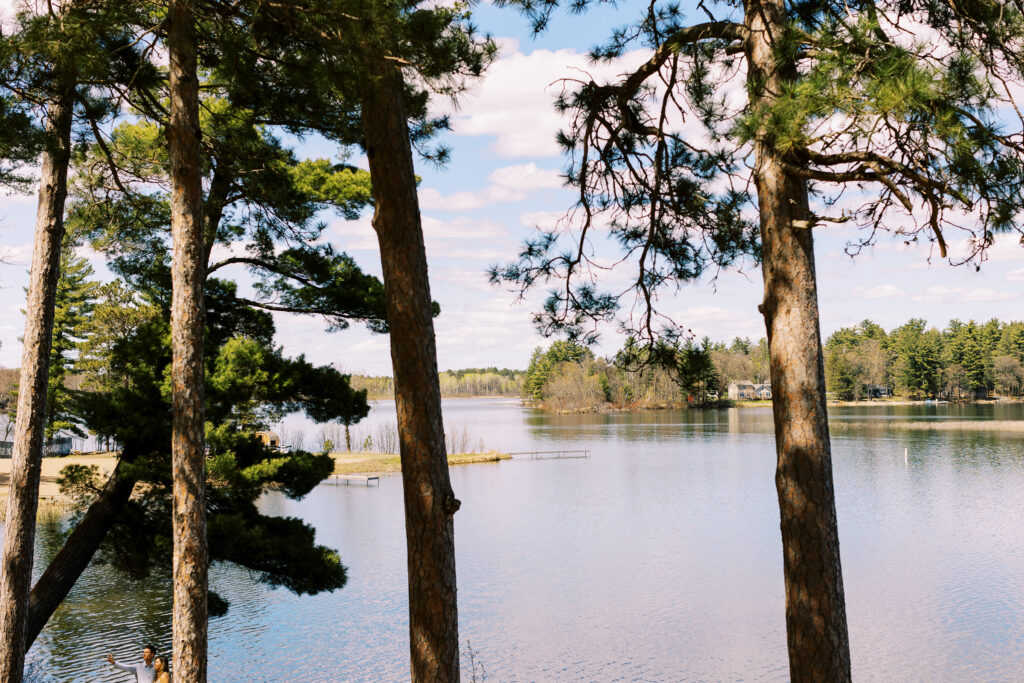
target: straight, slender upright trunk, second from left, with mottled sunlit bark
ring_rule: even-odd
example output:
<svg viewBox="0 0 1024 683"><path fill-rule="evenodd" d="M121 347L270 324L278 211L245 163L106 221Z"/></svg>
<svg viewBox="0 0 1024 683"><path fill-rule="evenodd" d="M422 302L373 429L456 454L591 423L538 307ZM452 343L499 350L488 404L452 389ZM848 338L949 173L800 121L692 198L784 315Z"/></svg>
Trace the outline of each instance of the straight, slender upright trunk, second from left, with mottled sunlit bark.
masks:
<svg viewBox="0 0 1024 683"><path fill-rule="evenodd" d="M194 0L171 0L167 46L171 160L171 471L174 677L206 681L206 454L203 431L203 186Z"/></svg>

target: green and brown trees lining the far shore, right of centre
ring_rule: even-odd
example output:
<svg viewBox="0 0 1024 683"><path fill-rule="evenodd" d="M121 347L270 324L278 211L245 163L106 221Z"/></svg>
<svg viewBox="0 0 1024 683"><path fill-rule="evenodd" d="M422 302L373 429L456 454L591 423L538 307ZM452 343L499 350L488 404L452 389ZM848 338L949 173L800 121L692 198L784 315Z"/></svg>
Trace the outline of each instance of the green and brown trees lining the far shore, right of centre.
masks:
<svg viewBox="0 0 1024 683"><path fill-rule="evenodd" d="M635 340L600 358L573 341L534 350L522 381L528 402L553 411L725 404L732 382L770 381L768 340L687 340L642 356ZM642 357L638 357L642 356ZM644 361L645 360L645 361ZM871 321L824 342L825 387L840 400L888 395L963 400L1024 394L1024 323L911 318L887 333Z"/></svg>

